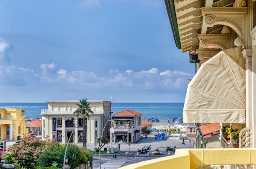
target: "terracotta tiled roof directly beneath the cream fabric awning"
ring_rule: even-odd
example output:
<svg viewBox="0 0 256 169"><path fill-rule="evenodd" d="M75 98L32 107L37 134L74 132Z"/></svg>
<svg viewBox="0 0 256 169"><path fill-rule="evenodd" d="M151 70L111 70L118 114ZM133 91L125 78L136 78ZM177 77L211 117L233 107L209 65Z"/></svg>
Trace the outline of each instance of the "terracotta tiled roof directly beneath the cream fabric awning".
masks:
<svg viewBox="0 0 256 169"><path fill-rule="evenodd" d="M220 126L219 123L209 123L209 124L204 124L200 126L200 130L202 132L202 137L207 138L211 137L212 134L219 134L220 131Z"/></svg>

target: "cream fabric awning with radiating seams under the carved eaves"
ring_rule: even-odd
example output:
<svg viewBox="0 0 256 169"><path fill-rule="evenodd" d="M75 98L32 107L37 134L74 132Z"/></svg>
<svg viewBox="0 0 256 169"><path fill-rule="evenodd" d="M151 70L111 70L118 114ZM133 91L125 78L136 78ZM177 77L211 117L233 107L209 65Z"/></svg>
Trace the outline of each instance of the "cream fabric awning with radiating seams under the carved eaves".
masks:
<svg viewBox="0 0 256 169"><path fill-rule="evenodd" d="M245 122L245 61L242 49L219 52L203 63L187 87L184 123Z"/></svg>

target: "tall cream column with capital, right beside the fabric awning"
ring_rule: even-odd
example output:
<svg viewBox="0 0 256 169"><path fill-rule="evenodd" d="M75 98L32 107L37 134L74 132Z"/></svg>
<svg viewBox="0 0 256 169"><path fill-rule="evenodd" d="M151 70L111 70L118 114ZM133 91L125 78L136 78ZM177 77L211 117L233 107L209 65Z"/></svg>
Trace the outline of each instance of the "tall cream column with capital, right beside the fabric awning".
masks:
<svg viewBox="0 0 256 169"><path fill-rule="evenodd" d="M244 49L242 51L245 60L245 76L246 76L246 127L252 126L252 49Z"/></svg>

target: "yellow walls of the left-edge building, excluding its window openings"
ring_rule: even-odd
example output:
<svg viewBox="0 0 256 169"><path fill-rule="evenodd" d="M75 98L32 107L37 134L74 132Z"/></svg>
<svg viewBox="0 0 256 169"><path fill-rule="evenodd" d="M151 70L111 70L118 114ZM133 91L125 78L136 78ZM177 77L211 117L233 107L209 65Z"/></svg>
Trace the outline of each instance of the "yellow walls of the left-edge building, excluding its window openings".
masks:
<svg viewBox="0 0 256 169"><path fill-rule="evenodd" d="M11 120L6 120L7 114L10 113ZM0 119L1 127L1 140L5 138L5 127L10 124L13 125L13 139L17 140L17 136L26 134L26 119L22 115L22 109L0 109L0 114L2 114L2 120ZM20 134L18 134L18 126L20 126ZM10 133L11 134L11 133Z"/></svg>

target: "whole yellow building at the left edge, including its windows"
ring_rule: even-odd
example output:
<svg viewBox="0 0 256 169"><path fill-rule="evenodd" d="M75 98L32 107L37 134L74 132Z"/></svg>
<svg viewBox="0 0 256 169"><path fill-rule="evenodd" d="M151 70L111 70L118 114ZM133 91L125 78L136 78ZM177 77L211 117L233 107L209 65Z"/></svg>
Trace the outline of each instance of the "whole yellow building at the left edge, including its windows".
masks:
<svg viewBox="0 0 256 169"><path fill-rule="evenodd" d="M26 134L26 119L22 109L0 109L0 140L17 140Z"/></svg>

